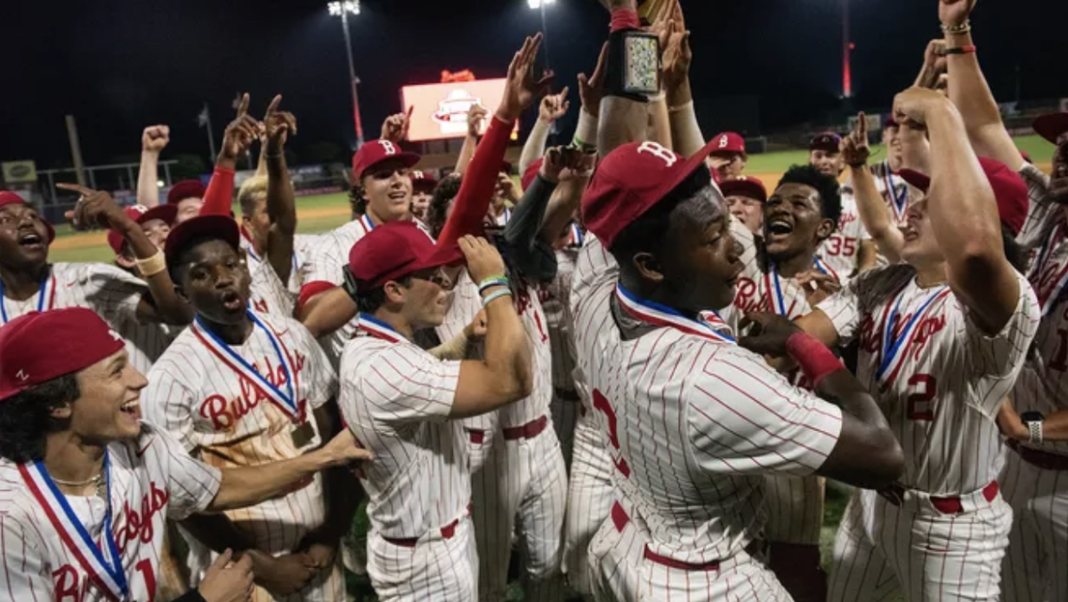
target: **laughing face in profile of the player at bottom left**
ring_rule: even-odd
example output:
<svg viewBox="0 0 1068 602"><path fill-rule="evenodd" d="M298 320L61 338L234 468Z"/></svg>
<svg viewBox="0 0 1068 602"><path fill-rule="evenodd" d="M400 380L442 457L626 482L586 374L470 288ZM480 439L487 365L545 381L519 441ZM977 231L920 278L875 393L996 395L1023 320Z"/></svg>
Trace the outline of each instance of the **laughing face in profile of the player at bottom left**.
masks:
<svg viewBox="0 0 1068 602"><path fill-rule="evenodd" d="M69 421L69 429L84 442L108 444L137 439L141 432L141 390L148 381L120 350L77 375L81 395L52 411Z"/></svg>

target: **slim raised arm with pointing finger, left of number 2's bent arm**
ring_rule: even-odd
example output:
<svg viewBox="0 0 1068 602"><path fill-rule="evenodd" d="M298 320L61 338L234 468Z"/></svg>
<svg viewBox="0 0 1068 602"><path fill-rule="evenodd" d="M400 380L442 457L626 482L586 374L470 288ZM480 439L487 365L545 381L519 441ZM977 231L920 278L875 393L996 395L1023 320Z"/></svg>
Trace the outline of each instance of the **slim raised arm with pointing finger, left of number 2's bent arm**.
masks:
<svg viewBox="0 0 1068 602"><path fill-rule="evenodd" d="M864 229L871 235L871 240L875 241L879 252L890 263L896 264L901 260L905 237L891 219L890 208L886 207L882 194L879 194L875 176L867 167L870 154L867 116L860 113L857 116L857 129L842 140L842 156L849 165L849 177L857 197L857 211L860 213Z"/></svg>

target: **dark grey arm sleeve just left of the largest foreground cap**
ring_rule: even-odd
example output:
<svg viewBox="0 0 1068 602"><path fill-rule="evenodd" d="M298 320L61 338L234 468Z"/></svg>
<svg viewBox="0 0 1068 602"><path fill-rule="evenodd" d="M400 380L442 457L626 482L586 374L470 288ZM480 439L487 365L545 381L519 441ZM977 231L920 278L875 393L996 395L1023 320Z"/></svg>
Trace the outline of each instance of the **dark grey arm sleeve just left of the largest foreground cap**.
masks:
<svg viewBox="0 0 1068 602"><path fill-rule="evenodd" d="M556 276L556 253L538 237L554 190L556 185L538 174L504 228L508 258L519 271L537 282L552 282Z"/></svg>

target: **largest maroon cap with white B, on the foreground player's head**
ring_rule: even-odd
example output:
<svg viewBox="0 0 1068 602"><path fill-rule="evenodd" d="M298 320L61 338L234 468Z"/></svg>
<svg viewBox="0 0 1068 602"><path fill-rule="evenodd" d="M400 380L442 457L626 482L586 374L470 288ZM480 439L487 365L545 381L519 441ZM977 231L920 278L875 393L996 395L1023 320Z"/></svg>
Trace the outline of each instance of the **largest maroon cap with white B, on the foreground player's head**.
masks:
<svg viewBox="0 0 1068 602"><path fill-rule="evenodd" d="M656 142L631 142L612 150L582 195L586 228L611 249L619 232L705 167L717 145L712 140L689 159Z"/></svg>

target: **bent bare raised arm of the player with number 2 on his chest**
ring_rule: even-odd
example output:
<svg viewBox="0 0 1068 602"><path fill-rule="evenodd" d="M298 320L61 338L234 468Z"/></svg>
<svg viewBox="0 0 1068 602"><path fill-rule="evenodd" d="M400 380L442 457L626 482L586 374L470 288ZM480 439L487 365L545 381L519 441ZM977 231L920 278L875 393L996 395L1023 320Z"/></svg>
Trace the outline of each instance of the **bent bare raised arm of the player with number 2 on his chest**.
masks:
<svg viewBox="0 0 1068 602"><path fill-rule="evenodd" d="M976 323L996 333L1016 311L1020 285L1005 258L993 190L960 113L938 92L921 88L898 94L894 113L899 122L926 125L930 132L927 211L945 256L949 286L972 310Z"/></svg>

